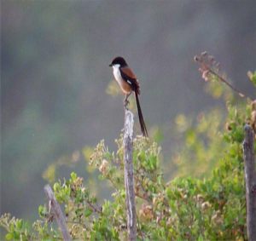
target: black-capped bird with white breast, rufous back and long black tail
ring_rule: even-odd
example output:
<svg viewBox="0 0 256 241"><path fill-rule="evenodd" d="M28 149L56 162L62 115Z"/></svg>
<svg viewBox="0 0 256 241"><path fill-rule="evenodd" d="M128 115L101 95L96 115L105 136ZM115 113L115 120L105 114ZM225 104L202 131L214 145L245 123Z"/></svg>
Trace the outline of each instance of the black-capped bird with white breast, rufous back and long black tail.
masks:
<svg viewBox="0 0 256 241"><path fill-rule="evenodd" d="M119 83L120 89L125 94L125 106L127 106L127 104L129 103L128 97L131 95L132 91L135 93L137 112L141 129L143 135L148 136L148 131L143 118L142 108L140 106L140 101L138 98L141 90L136 75L131 71L131 68L127 65L125 59L122 57L114 58L109 66L113 67L113 77L115 78L117 83Z"/></svg>

